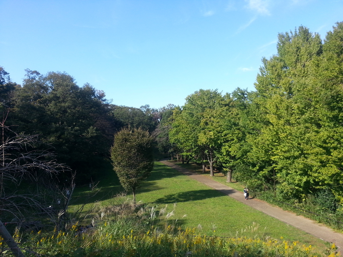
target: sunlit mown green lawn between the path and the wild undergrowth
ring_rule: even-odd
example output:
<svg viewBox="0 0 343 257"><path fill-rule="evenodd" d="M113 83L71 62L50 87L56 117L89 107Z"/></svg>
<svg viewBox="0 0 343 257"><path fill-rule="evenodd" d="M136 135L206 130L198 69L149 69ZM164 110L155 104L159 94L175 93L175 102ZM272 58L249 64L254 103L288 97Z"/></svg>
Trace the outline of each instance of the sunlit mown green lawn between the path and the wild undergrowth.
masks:
<svg viewBox="0 0 343 257"><path fill-rule="evenodd" d="M104 180L97 186L99 192L88 201L97 200L100 205L109 205L113 201L112 196L122 191L118 178L110 168L104 171ZM88 187L75 190L73 198L77 200L74 206L70 206L70 210L78 207L85 200L83 196L89 193L88 191ZM299 241L301 244L312 245L318 249L327 247L322 240L252 209L159 162L155 163L152 175L142 183L136 197L138 201L141 200L149 206L157 206L157 209L168 204L168 211L171 211L176 203L173 222L182 229L198 227L201 224L202 230L199 231L201 234L224 237L269 236L281 240ZM182 218L185 214L187 217ZM256 227L259 228L254 231Z"/></svg>

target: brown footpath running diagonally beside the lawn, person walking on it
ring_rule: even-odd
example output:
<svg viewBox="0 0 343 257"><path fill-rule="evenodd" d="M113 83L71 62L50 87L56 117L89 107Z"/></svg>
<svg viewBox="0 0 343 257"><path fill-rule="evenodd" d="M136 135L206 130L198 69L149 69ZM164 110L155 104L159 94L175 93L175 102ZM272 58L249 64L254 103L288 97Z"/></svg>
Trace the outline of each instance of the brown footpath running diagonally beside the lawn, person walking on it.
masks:
<svg viewBox="0 0 343 257"><path fill-rule="evenodd" d="M324 225L320 225L310 219L304 218L302 216L297 216L294 213L284 211L277 207L273 207L264 201L257 200L257 199L249 199L246 201L244 199L243 192L239 192L236 189L223 185L222 183L206 178L205 176L201 174L193 173L185 168L182 168L176 164L172 164L166 160L161 160L160 162L162 162L163 164L166 164L167 166L177 171L184 173L185 175L190 176L192 179L198 180L199 182L204 183L205 185L208 185L214 189L217 189L218 191L224 193L225 195L228 195L246 205L249 205L256 210L260 210L263 213L271 217L274 217L275 219L281 220L282 222L285 222L295 228L303 230L315 237L320 238L321 240L324 240L330 243L335 243L335 245L339 247L338 248L339 250L340 248L343 249L343 234L341 233L334 232L332 229Z"/></svg>

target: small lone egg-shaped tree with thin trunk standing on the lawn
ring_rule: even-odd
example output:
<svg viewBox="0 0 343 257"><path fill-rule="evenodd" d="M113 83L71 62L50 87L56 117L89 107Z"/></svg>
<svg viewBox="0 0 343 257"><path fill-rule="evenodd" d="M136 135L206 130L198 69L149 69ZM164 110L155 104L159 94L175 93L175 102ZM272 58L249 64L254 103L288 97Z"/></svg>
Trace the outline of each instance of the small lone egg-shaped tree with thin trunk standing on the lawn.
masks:
<svg viewBox="0 0 343 257"><path fill-rule="evenodd" d="M151 173L153 161L153 137L148 131L124 128L114 137L111 160L120 184L132 190L136 200L136 189Z"/></svg>

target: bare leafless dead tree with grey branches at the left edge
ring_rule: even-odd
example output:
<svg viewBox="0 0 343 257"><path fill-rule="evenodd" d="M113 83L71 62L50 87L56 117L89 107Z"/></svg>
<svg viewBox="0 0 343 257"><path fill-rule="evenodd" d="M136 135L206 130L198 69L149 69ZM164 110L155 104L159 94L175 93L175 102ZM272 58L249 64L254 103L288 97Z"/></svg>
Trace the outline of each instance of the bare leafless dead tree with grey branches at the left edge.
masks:
<svg viewBox="0 0 343 257"><path fill-rule="evenodd" d="M38 186L53 183L56 174L68 168L57 163L51 151L35 149L37 145L42 145L38 135L17 135L1 125L3 131L7 129L12 136L5 138L3 133L0 145L0 214L2 218L11 219L12 223L20 226L30 218L33 220L37 210L51 212L51 206L46 206L45 196L38 190ZM31 184L34 182L37 191L19 193L24 181ZM0 235L15 256L24 256L2 222Z"/></svg>

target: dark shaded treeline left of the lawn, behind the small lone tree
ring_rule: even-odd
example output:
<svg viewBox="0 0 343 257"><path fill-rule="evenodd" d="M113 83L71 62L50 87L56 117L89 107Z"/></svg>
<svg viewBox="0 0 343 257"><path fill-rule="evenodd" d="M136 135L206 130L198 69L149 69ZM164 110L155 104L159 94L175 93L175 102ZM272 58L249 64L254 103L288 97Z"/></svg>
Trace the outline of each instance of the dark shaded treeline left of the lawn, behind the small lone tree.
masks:
<svg viewBox="0 0 343 257"><path fill-rule="evenodd" d="M57 162L76 171L82 183L99 175L117 131L130 126L152 133L162 113L174 108L117 106L103 91L89 84L79 87L60 72L26 70L23 84L17 85L1 67L0 102L3 142L13 134L38 135L42 144L34 147L55 152Z"/></svg>

